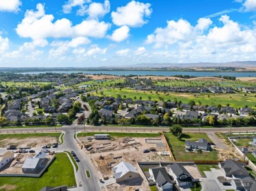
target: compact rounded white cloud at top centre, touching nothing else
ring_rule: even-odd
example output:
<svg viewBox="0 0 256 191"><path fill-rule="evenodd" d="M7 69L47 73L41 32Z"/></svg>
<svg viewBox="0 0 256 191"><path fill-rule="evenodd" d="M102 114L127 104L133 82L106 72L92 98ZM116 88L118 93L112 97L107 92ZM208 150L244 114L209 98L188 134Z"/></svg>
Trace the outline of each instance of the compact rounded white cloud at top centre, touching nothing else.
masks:
<svg viewBox="0 0 256 191"><path fill-rule="evenodd" d="M143 26L148 22L144 20L144 17L148 17L152 13L150 6L149 3L131 1L125 7L117 7L117 11L111 13L112 22L117 26Z"/></svg>

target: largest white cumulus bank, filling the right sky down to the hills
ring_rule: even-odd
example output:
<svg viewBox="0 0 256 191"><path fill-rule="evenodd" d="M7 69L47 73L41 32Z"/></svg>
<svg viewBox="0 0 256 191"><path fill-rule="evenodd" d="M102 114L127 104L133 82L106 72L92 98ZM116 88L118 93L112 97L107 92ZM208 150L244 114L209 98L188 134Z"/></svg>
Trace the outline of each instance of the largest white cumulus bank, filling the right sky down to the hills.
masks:
<svg viewBox="0 0 256 191"><path fill-rule="evenodd" d="M146 39L155 48L166 50L149 56L154 60L158 53L165 61L179 62L255 60L256 28L241 26L226 15L219 22L221 26L210 27L211 20L200 19L196 26L185 20L169 21Z"/></svg>

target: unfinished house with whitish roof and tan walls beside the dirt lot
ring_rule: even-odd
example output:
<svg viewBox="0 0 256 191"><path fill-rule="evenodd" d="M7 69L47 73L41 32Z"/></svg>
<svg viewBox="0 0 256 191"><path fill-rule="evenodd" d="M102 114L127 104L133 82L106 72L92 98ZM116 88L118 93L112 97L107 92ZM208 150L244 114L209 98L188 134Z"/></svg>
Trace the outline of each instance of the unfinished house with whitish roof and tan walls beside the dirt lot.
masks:
<svg viewBox="0 0 256 191"><path fill-rule="evenodd" d="M139 177L137 169L128 162L120 162L112 168L116 182L122 182Z"/></svg>

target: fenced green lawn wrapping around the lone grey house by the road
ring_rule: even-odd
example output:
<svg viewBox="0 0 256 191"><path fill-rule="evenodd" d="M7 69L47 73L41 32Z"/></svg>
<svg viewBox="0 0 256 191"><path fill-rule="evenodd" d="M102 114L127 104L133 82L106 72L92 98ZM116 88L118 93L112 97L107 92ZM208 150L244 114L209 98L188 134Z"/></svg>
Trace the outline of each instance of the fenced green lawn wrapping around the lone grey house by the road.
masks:
<svg viewBox="0 0 256 191"><path fill-rule="evenodd" d="M178 140L173 133L165 133L165 135L172 147L174 157L178 161L219 160L217 150L202 153L185 152L185 140L198 141L199 138L204 138L211 141L205 133L186 133L181 140Z"/></svg>

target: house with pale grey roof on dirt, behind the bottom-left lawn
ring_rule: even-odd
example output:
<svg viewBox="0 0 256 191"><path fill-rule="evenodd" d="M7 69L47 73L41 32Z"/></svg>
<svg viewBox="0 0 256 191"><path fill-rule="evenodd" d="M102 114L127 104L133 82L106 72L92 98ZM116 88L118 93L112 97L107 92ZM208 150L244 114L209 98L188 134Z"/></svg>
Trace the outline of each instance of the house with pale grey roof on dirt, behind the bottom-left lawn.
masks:
<svg viewBox="0 0 256 191"><path fill-rule="evenodd" d="M40 151L33 158L26 158L24 164L22 165L23 173L37 173L40 168L45 167L47 163L46 152Z"/></svg>

